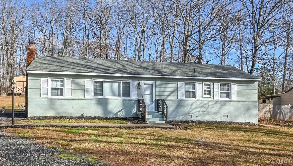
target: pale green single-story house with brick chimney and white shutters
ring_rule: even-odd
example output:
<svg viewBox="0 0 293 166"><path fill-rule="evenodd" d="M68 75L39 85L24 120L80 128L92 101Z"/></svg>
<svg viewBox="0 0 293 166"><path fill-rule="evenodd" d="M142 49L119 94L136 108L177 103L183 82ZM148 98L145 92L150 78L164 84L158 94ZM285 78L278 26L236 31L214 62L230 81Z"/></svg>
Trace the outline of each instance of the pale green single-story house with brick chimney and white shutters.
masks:
<svg viewBox="0 0 293 166"><path fill-rule="evenodd" d="M258 122L257 81L230 65L36 57L27 46L28 116L136 117L147 121ZM140 103L141 104L141 103Z"/></svg>

